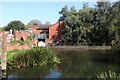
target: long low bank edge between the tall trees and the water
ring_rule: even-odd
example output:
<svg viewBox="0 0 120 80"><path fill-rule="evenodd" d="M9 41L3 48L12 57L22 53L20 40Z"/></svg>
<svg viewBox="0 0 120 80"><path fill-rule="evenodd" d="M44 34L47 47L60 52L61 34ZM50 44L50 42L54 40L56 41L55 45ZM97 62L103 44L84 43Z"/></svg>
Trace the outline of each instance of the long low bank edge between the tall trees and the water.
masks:
<svg viewBox="0 0 120 80"><path fill-rule="evenodd" d="M111 50L111 46L48 46L57 49Z"/></svg>

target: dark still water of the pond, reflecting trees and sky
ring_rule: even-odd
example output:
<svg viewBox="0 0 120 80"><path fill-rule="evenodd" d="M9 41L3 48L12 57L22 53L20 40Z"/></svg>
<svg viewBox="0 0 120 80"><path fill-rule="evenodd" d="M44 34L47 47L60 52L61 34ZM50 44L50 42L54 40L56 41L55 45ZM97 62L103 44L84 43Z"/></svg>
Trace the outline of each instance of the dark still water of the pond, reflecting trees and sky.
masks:
<svg viewBox="0 0 120 80"><path fill-rule="evenodd" d="M98 72L120 72L120 54L105 50L53 49L61 59L53 67L13 69L7 77L14 78L96 78Z"/></svg>

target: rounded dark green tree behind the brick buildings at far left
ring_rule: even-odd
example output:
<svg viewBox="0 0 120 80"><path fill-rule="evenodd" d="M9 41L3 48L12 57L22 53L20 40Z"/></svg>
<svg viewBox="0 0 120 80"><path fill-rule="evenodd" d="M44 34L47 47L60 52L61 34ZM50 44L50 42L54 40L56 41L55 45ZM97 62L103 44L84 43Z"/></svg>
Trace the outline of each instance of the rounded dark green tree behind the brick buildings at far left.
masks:
<svg viewBox="0 0 120 80"><path fill-rule="evenodd" d="M21 22L21 21L11 21L10 23L8 23L7 26L4 27L5 31L9 31L10 29L12 30L24 30L25 29L25 25Z"/></svg>

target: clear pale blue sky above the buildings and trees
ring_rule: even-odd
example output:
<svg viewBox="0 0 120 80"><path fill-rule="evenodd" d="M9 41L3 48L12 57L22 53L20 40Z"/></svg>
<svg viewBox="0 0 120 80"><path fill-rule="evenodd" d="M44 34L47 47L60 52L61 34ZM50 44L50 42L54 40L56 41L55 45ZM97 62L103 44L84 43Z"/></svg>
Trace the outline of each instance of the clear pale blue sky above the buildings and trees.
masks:
<svg viewBox="0 0 120 80"><path fill-rule="evenodd" d="M46 1L46 2L45 2ZM63 1L63 0L59 0ZM58 21L60 14L59 11L65 6L69 7L75 6L77 10L83 7L83 1L68 1L65 2L56 2L56 1L36 1L29 0L22 2L19 0L1 0L0 2L0 27L6 26L8 23L14 20L20 20L24 24L28 24L31 20L38 19L42 23L49 21L51 24L54 24ZM94 7L95 1L89 0L89 6Z"/></svg>

